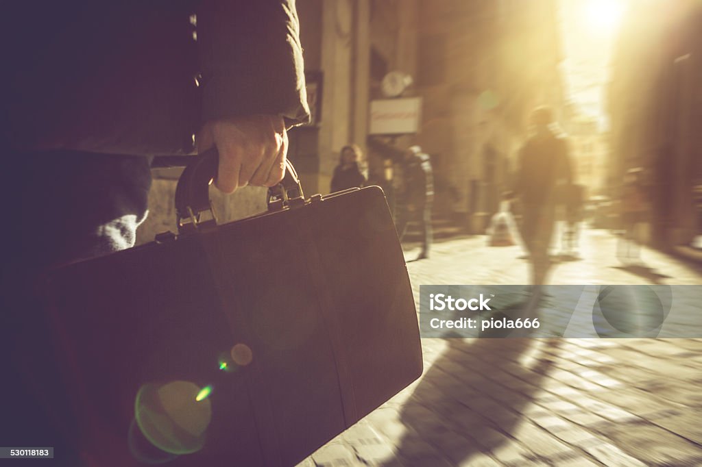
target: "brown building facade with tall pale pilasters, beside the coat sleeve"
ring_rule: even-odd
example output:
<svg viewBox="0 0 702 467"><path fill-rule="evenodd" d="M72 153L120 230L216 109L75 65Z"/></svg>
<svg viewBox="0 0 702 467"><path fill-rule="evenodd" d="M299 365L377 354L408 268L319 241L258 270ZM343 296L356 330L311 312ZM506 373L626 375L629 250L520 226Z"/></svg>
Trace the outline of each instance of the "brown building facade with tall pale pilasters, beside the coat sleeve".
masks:
<svg viewBox="0 0 702 467"><path fill-rule="evenodd" d="M311 193L328 193L331 174L346 144L366 153L369 109L382 97L388 72L413 76L417 0L307 0L298 2L308 94L316 121L291 131L293 163ZM411 90L409 91L411 93ZM364 161L382 172L383 161Z"/></svg>

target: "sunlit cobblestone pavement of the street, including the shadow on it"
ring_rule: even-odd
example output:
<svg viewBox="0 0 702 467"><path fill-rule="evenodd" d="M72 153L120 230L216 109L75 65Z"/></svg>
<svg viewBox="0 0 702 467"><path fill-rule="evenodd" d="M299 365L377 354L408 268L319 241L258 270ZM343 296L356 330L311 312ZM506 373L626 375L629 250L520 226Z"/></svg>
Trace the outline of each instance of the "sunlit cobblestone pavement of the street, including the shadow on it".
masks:
<svg viewBox="0 0 702 467"><path fill-rule="evenodd" d="M696 267L585 231L553 284L702 284ZM519 247L438 243L420 284L519 284ZM412 255L413 252L408 252ZM411 256L409 256L411 258ZM425 372L300 466L702 466L702 339L423 339Z"/></svg>

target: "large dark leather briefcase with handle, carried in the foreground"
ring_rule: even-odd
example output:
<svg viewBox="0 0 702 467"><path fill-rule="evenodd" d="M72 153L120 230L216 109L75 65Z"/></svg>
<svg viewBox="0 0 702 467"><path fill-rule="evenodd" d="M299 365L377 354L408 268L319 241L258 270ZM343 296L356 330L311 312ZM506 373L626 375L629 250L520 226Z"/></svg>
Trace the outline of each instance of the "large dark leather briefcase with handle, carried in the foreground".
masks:
<svg viewBox="0 0 702 467"><path fill-rule="evenodd" d="M379 187L218 225L216 151L176 190L178 234L46 276L68 433L95 466L291 466L422 372Z"/></svg>

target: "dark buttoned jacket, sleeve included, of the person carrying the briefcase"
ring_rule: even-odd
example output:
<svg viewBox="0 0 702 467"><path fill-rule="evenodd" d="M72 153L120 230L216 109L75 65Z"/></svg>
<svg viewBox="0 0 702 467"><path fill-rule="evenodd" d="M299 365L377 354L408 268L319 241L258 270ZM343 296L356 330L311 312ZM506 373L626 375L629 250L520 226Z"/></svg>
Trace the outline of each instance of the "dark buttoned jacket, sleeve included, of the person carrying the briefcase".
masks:
<svg viewBox="0 0 702 467"><path fill-rule="evenodd" d="M294 0L15 1L3 17L16 149L187 154L205 121L309 119Z"/></svg>

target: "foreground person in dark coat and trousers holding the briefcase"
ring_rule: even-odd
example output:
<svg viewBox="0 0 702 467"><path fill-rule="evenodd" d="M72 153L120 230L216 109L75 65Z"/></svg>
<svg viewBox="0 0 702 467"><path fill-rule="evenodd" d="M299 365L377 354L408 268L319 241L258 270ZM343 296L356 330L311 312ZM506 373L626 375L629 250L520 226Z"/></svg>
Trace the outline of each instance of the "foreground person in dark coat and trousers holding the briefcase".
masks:
<svg viewBox="0 0 702 467"><path fill-rule="evenodd" d="M298 17L294 0L13 2L4 15L0 439L79 465L51 386L65 375L25 351L52 339L34 280L133 245L147 156L216 147L227 193L282 180L286 130L310 114Z"/></svg>

